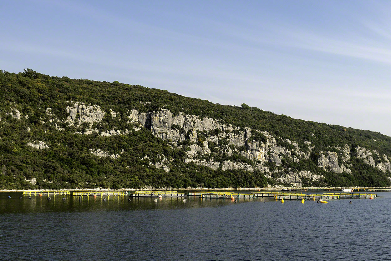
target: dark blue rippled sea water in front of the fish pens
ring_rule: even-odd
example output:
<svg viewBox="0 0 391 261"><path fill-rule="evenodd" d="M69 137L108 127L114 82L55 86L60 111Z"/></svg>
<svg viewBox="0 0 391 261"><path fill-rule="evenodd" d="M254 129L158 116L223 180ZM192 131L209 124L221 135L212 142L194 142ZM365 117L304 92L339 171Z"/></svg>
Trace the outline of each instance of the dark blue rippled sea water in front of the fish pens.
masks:
<svg viewBox="0 0 391 261"><path fill-rule="evenodd" d="M352 204L20 194L0 193L0 260L391 260L391 193Z"/></svg>

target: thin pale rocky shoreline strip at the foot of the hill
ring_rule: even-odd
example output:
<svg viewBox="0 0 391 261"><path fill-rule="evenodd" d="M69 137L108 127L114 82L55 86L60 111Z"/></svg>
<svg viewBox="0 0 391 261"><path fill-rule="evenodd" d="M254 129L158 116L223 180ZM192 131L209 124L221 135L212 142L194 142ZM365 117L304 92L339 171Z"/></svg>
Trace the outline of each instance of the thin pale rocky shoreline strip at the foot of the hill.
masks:
<svg viewBox="0 0 391 261"><path fill-rule="evenodd" d="M294 190L329 190L329 189L390 189L391 187L377 187L377 188L368 188L368 187L266 187L266 188L122 188L122 189L103 189L103 188L94 188L94 189L1 189L0 192L23 192L23 191L144 191L144 190L162 190L162 191L207 191L207 190L220 190L220 191L240 191L240 190L260 190L260 191L273 191L273 190L282 190L282 189L294 189Z"/></svg>

